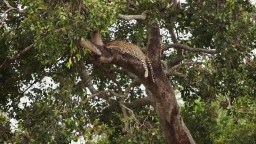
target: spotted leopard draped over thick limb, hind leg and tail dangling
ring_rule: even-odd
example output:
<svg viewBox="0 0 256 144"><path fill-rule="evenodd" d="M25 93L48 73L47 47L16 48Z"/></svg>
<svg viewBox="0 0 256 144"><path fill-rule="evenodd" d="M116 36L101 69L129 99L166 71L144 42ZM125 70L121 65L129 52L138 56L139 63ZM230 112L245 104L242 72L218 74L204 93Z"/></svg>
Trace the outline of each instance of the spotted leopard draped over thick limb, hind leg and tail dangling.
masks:
<svg viewBox="0 0 256 144"><path fill-rule="evenodd" d="M152 75L152 80L155 83L155 74L151 65L151 61L149 58L141 51L141 48L133 43L129 43L126 41L113 41L108 43L108 46L112 49L117 50L118 52L124 54L128 53L131 56L133 56L136 59L139 59L141 61L142 66L145 69L144 77L148 77L148 69L147 69L147 63L149 64L149 69ZM147 61L147 63L146 63Z"/></svg>

